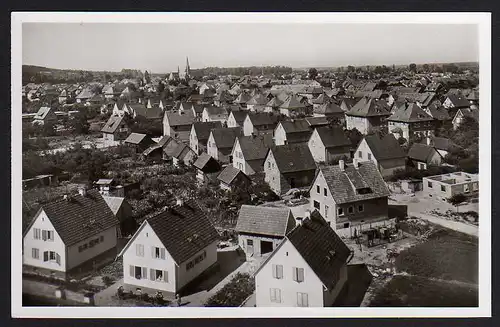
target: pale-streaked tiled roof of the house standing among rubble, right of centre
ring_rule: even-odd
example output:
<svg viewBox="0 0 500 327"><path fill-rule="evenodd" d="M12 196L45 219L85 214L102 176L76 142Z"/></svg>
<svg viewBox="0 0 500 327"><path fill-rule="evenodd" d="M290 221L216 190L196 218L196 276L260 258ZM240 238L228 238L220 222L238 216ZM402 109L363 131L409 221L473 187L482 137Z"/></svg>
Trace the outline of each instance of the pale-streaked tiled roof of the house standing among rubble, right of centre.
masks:
<svg viewBox="0 0 500 327"><path fill-rule="evenodd" d="M335 203L350 203L387 197L390 195L382 175L371 161L358 163L358 168L353 164L344 164L344 170L337 166L322 166L319 168ZM360 189L369 188L371 192L359 192Z"/></svg>

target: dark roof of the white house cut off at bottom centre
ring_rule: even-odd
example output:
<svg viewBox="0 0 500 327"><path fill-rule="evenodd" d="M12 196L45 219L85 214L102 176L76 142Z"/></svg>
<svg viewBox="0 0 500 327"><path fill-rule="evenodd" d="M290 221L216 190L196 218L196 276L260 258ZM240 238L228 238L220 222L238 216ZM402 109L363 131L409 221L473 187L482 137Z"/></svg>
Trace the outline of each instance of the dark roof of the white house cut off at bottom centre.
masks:
<svg viewBox="0 0 500 327"><path fill-rule="evenodd" d="M323 285L331 290L340 280L340 269L351 250L314 210L286 236Z"/></svg>

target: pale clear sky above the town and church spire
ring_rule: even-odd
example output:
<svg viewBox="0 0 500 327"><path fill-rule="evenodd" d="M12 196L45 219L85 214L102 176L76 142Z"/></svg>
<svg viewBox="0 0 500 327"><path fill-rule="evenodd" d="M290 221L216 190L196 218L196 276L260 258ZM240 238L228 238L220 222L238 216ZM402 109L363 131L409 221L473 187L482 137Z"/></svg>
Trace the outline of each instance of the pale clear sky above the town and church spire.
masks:
<svg viewBox="0 0 500 327"><path fill-rule="evenodd" d="M479 61L476 25L23 23L23 64L153 73Z"/></svg>

